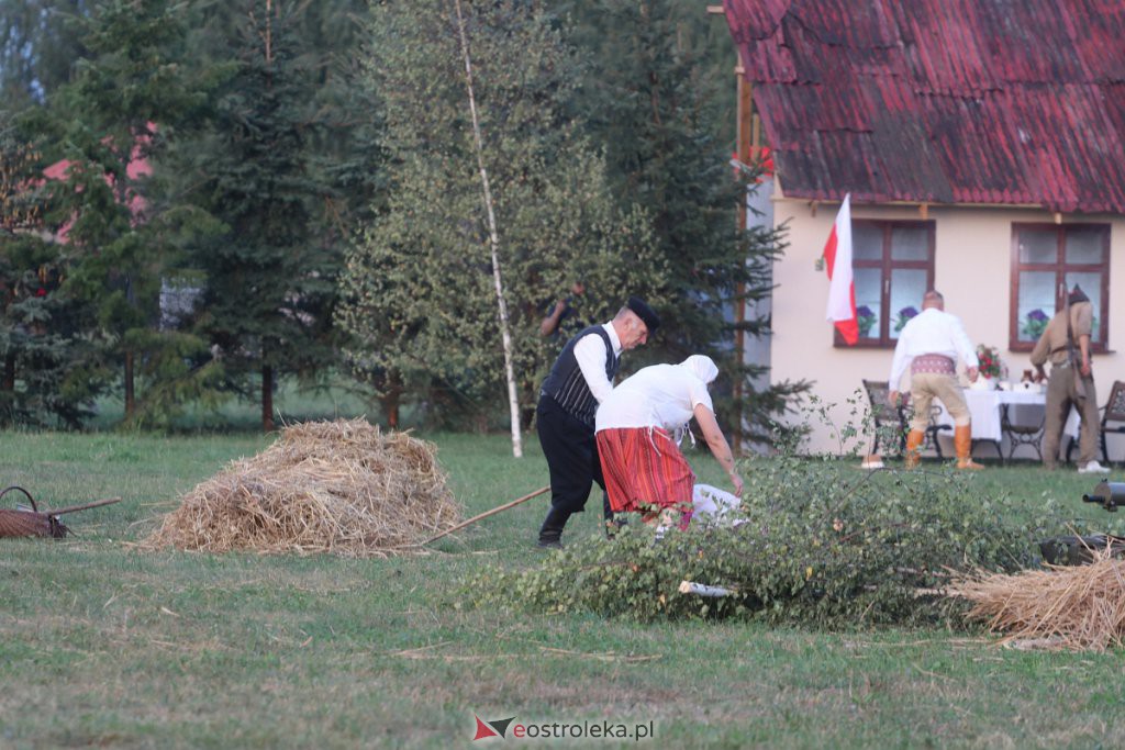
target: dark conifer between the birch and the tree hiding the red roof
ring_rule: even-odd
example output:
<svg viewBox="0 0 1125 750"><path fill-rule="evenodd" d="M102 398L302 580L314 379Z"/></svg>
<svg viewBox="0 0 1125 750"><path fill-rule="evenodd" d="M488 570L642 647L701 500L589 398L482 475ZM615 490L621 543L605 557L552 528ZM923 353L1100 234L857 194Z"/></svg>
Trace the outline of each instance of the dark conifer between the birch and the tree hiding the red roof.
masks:
<svg viewBox="0 0 1125 750"><path fill-rule="evenodd" d="M226 231L192 250L206 278L197 331L217 347L232 387L249 394L260 374L270 431L277 378L312 377L334 356L341 251L323 231L330 190L312 165L323 120L309 107L317 57L299 35L305 6L242 0L214 12L212 27L233 21L225 37L232 73L189 171L202 183L200 206ZM222 49L213 53L218 62Z"/></svg>

